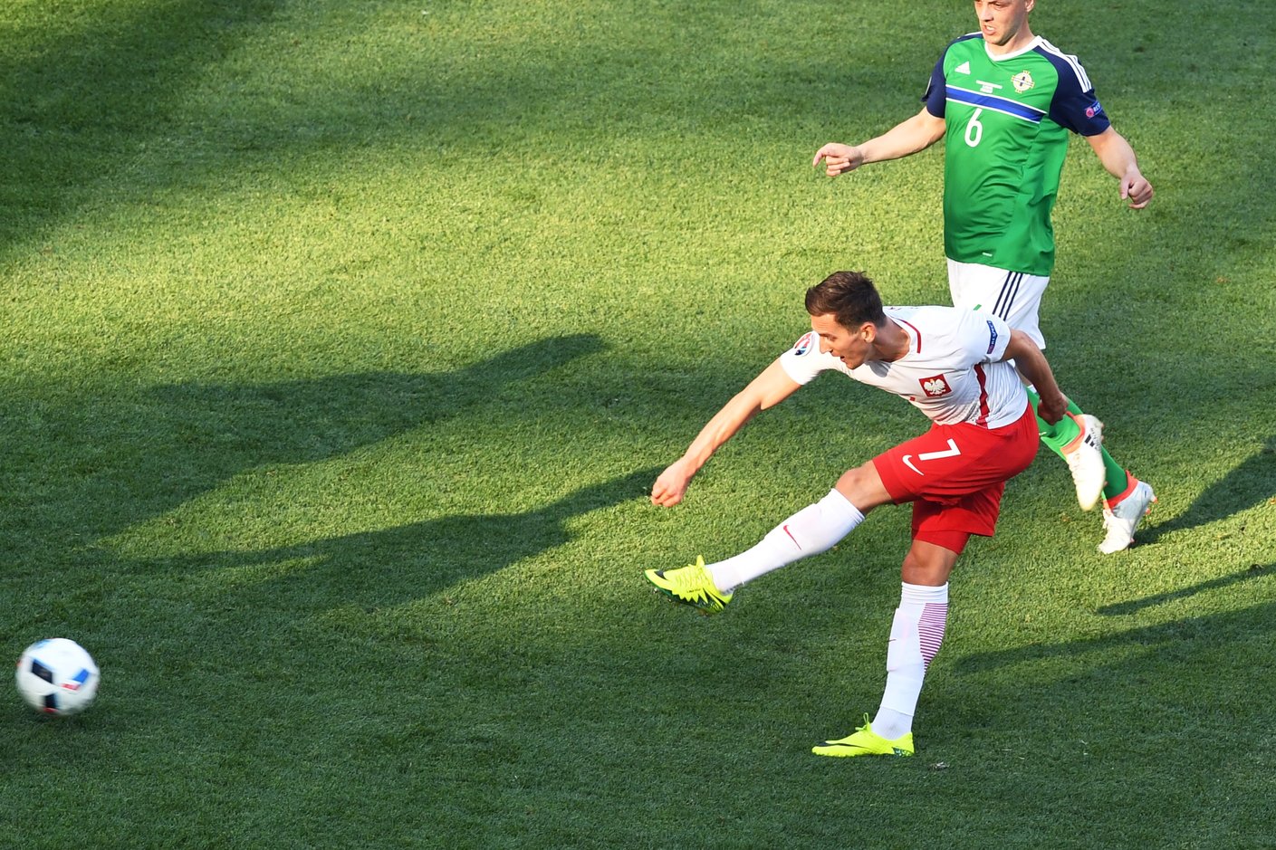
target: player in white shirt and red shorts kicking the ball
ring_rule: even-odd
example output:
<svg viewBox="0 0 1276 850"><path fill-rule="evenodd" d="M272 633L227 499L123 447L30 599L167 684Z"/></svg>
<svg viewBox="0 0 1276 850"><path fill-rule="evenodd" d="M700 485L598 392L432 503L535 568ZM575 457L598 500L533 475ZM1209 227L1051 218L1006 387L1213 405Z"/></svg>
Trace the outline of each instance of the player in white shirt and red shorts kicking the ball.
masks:
<svg viewBox="0 0 1276 850"><path fill-rule="evenodd" d="M843 472L827 496L781 522L753 549L646 574L675 601L713 614L740 585L827 551L873 508L911 502L912 545L901 567L882 705L851 735L813 749L819 756L911 756L912 715L947 623L948 576L970 535L993 533L1005 481L1036 456L1036 417L1016 366L1036 385L1037 414L1046 421L1058 421L1068 402L1036 343L995 315L942 306L886 309L860 272L836 272L813 286L806 311L812 332L731 398L661 472L653 504L681 502L692 477L749 419L824 370L903 397L931 420L930 429Z"/></svg>

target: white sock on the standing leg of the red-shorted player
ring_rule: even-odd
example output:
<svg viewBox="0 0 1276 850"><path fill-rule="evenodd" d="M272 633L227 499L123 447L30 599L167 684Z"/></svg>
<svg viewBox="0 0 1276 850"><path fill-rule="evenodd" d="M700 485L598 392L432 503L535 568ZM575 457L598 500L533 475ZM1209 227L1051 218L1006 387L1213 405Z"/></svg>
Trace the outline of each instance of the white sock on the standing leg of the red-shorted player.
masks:
<svg viewBox="0 0 1276 850"><path fill-rule="evenodd" d="M886 692L872 722L873 731L882 738L894 740L912 731L921 682L943 643L947 622L948 585L903 583L886 653Z"/></svg>

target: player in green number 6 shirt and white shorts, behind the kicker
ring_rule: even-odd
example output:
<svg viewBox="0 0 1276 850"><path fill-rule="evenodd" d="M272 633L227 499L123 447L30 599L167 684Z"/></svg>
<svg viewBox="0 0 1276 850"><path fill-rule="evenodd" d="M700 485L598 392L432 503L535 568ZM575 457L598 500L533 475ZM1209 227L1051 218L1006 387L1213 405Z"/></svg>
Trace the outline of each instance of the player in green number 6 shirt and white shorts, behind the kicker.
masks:
<svg viewBox="0 0 1276 850"><path fill-rule="evenodd" d="M857 145L815 152L835 177L868 162L898 160L944 139L944 253L956 306L989 310L1045 347L1037 322L1054 265L1050 211L1069 133L1090 143L1133 209L1152 199L1134 151L1104 114L1076 56L1035 36L1036 0L975 0L980 29L948 45L925 106ZM1030 392L1034 403L1036 397ZM1069 402L1058 425L1039 420L1041 440L1063 457L1088 511L1104 498L1104 554L1131 545L1156 500L1152 488L1113 461L1102 424Z"/></svg>

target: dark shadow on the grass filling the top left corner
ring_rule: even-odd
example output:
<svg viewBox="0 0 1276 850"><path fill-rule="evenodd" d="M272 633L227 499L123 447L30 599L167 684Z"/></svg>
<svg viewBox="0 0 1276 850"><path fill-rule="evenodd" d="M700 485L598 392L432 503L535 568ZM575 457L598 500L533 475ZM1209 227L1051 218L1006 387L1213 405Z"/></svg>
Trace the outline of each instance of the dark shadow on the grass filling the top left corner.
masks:
<svg viewBox="0 0 1276 850"><path fill-rule="evenodd" d="M0 184L38 199L0 216L0 251L45 239L33 234L89 200L85 188L139 151L170 145L167 123L189 86L268 26L279 5L179 0L100 14L48 10L55 26L24 32L23 60L0 64ZM179 168L166 176L181 179ZM124 184L125 194L142 188ZM103 189L97 200L120 189Z"/></svg>

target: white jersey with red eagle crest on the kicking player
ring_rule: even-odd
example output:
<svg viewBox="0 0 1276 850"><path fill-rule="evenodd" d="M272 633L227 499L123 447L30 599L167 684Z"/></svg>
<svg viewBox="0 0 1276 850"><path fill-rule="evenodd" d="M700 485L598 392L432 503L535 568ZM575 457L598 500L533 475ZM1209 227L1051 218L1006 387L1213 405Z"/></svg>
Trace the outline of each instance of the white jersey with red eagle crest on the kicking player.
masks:
<svg viewBox="0 0 1276 850"><path fill-rule="evenodd" d="M1002 428L1023 415L1027 393L1014 366L1000 360L1011 341L1000 318L944 306L891 306L886 315L909 334L909 351L898 360L849 369L820 352L813 331L781 355L780 365L799 384L836 369L902 397L939 425Z"/></svg>

